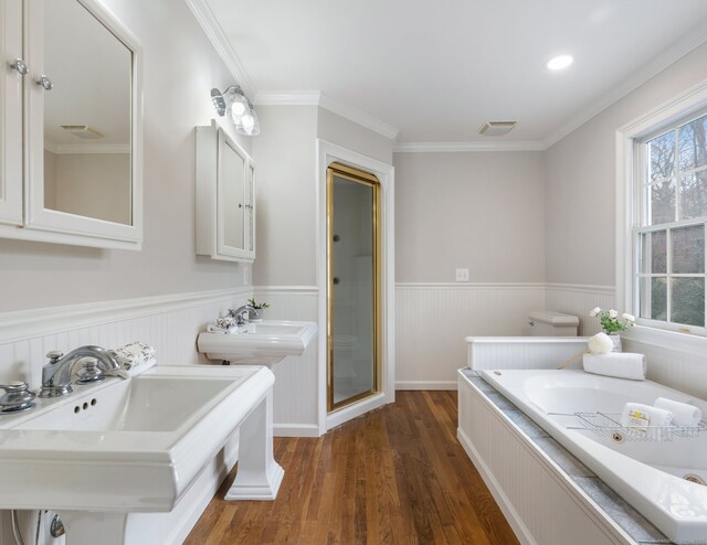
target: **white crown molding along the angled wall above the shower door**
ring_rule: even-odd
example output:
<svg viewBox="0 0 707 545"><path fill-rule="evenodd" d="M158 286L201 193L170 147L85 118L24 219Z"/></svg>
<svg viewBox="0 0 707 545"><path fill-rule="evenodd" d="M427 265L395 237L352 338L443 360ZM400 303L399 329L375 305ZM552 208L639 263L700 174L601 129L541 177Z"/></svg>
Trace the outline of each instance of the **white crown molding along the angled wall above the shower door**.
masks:
<svg viewBox="0 0 707 545"><path fill-rule="evenodd" d="M398 138L400 129L352 106L336 101L319 90L274 90L261 92L253 101L256 106L318 106L366 127L389 140Z"/></svg>

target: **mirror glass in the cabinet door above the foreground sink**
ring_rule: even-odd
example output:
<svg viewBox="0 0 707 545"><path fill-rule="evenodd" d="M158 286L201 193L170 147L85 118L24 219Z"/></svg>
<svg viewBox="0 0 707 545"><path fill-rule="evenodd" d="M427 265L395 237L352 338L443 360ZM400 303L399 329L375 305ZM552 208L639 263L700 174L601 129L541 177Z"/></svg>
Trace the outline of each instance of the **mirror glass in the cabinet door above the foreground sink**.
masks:
<svg viewBox="0 0 707 545"><path fill-rule="evenodd" d="M133 52L77 0L44 20L44 207L131 225Z"/></svg>

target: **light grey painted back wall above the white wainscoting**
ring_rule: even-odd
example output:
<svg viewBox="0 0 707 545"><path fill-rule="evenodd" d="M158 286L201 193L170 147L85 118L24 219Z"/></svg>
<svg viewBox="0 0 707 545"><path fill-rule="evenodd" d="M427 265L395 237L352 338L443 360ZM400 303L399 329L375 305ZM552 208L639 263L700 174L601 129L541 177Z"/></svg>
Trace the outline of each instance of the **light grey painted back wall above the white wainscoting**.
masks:
<svg viewBox="0 0 707 545"><path fill-rule="evenodd" d="M538 151L395 153L395 281L545 281Z"/></svg>

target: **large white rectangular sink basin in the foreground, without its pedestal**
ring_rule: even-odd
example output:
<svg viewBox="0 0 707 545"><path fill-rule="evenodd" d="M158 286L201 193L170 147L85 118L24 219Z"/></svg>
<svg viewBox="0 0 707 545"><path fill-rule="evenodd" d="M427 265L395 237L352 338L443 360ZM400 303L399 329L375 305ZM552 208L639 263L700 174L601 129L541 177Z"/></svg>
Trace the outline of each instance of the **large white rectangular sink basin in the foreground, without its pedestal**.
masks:
<svg viewBox="0 0 707 545"><path fill-rule="evenodd" d="M272 389L263 367L155 366L0 417L0 509L170 511Z"/></svg>

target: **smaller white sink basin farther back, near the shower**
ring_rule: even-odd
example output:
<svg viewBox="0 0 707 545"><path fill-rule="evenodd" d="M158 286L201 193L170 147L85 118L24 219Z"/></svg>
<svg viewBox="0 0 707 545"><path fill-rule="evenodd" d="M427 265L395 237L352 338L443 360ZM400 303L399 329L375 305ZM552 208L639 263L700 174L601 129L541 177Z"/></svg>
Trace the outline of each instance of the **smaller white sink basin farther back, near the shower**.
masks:
<svg viewBox="0 0 707 545"><path fill-rule="evenodd" d="M197 345L209 360L271 366L288 355L302 355L316 333L314 322L263 320L246 323L230 335L200 333Z"/></svg>

